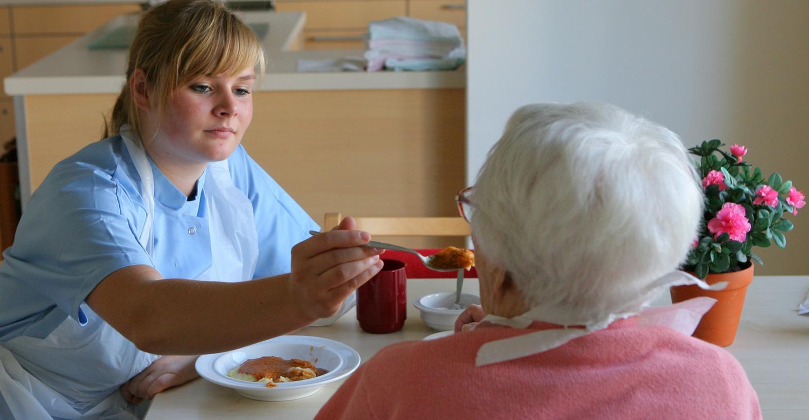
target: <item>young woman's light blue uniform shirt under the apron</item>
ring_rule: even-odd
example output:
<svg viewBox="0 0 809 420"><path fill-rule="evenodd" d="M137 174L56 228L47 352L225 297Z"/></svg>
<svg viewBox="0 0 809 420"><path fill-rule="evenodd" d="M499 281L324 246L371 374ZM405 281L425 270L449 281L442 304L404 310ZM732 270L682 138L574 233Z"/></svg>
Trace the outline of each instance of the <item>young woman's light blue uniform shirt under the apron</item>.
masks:
<svg viewBox="0 0 809 420"><path fill-rule="evenodd" d="M259 256L253 278L290 272L290 250L320 227L243 146L227 159L252 202ZM197 278L211 266L205 173L188 201L152 164L155 261L138 242L146 209L141 180L121 136L92 143L57 164L33 193L0 265L0 342L47 337L101 280L129 265L164 278ZM126 299L126 296L121 296Z"/></svg>

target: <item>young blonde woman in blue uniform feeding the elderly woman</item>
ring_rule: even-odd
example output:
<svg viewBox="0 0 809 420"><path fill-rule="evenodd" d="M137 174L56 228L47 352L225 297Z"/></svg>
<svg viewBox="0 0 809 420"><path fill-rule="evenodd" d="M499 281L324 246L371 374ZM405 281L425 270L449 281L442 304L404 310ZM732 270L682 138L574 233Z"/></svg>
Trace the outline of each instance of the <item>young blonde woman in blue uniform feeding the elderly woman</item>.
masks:
<svg viewBox="0 0 809 420"><path fill-rule="evenodd" d="M193 354L331 316L379 271L239 145L264 69L221 2L143 15L110 137L53 168L0 265L0 418L136 418Z"/></svg>

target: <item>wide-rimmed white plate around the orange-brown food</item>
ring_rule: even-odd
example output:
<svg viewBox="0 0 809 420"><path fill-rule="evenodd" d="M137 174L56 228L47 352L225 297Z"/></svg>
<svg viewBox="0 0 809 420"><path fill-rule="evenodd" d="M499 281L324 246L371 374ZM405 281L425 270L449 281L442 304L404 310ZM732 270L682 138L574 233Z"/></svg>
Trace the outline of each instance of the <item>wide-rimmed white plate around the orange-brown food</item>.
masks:
<svg viewBox="0 0 809 420"><path fill-rule="evenodd" d="M227 375L234 367L249 358L277 356L280 358L300 358L328 373L311 380L282 382L272 388L247 380L237 380ZM210 382L233 388L244 397L261 401L286 401L308 397L323 385L341 380L359 366L359 354L341 342L328 338L301 335L285 335L270 338L241 349L218 354L203 354L197 358L197 372Z"/></svg>

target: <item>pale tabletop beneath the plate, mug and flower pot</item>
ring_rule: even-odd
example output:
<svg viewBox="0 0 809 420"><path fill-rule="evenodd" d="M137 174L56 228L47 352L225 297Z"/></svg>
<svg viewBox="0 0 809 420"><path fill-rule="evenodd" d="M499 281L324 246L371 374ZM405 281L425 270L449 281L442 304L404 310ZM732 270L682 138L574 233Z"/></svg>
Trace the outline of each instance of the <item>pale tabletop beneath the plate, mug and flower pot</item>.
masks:
<svg viewBox="0 0 809 420"><path fill-rule="evenodd" d="M396 333L363 332L352 310L328 327L310 327L297 334L343 342L354 347L364 362L388 344L420 340L434 333L419 318L413 299L454 289L455 279L408 280L408 319ZM467 279L464 292L477 294L477 279ZM809 418L809 316L798 316L796 311L807 292L809 276L756 277L748 288L739 333L726 348L747 371L767 420ZM657 303L670 302L666 294ZM146 420L313 418L341 382L328 384L300 400L265 402L197 379L155 397Z"/></svg>

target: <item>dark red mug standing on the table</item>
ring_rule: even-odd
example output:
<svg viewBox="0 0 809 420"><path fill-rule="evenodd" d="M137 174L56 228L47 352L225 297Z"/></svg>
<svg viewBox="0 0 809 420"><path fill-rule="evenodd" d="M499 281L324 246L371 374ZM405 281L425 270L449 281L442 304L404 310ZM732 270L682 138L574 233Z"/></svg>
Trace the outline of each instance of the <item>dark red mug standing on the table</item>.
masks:
<svg viewBox="0 0 809 420"><path fill-rule="evenodd" d="M357 289L357 320L368 333L399 331L407 318L404 262L382 259L379 273Z"/></svg>

